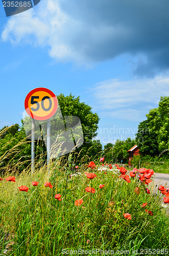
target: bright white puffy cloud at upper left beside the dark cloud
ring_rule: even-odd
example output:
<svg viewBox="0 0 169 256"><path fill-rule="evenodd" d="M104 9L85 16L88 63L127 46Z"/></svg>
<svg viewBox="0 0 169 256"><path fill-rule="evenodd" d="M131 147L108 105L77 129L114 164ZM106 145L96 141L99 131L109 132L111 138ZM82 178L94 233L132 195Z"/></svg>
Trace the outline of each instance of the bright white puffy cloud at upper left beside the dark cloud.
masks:
<svg viewBox="0 0 169 256"><path fill-rule="evenodd" d="M57 60L76 59L76 51L68 44L73 34L68 24L73 22L61 12L58 2L40 3L36 15L34 9L30 9L27 16L11 17L2 33L3 41L9 40L14 45L49 46L49 55Z"/></svg>

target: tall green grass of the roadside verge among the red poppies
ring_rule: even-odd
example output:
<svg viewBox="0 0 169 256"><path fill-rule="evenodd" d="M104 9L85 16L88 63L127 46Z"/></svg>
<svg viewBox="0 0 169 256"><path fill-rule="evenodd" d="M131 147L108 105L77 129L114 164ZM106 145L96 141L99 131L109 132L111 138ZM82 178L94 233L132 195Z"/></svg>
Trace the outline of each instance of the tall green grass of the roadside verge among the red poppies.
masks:
<svg viewBox="0 0 169 256"><path fill-rule="evenodd" d="M48 168L38 162L33 175L30 167L20 174L15 168L6 170L1 178L15 176L16 182L0 182L0 254L6 250L5 255L52 256L75 250L78 255L79 250L80 255L84 250L94 255L92 250L96 249L113 250L113 255L119 255L118 251L140 255L141 249L165 249L169 254L169 219L157 188L149 184L151 193L147 194L138 177L127 183L118 177L115 166L92 170L85 166L88 161L88 157L78 161L72 153L67 161L62 157L51 161ZM97 176L90 180L85 172ZM38 181L38 186L32 181ZM45 187L45 182L51 182L53 188ZM105 186L100 188L100 184ZM19 191L21 185L28 186L28 192ZM87 192L88 186L95 193ZM61 201L55 199L56 194L61 195ZM83 200L80 206L75 205L78 199ZM141 207L146 202L145 208L153 216ZM127 212L131 220L124 218Z"/></svg>

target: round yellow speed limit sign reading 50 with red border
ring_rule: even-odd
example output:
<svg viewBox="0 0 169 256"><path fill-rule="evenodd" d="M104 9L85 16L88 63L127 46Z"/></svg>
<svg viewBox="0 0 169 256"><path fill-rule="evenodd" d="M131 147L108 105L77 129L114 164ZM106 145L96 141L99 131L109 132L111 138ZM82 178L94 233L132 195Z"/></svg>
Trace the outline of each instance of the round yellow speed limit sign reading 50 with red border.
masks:
<svg viewBox="0 0 169 256"><path fill-rule="evenodd" d="M50 119L57 111L58 100L49 89L36 88L28 93L25 99L25 109L35 120Z"/></svg>

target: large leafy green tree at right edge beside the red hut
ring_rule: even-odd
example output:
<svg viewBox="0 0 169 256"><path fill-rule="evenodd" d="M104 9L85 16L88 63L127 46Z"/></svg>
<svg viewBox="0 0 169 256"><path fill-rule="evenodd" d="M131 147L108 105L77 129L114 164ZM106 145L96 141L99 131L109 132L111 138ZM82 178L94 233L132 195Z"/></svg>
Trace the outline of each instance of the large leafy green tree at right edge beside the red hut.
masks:
<svg viewBox="0 0 169 256"><path fill-rule="evenodd" d="M138 125L136 141L142 155L156 156L169 148L169 97L161 97L158 108L146 116Z"/></svg>

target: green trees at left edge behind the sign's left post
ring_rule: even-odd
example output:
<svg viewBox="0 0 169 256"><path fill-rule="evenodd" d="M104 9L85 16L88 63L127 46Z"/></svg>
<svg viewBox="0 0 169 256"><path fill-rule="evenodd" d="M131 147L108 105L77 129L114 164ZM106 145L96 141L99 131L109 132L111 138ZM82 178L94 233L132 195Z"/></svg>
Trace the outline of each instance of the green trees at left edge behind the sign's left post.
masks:
<svg viewBox="0 0 169 256"><path fill-rule="evenodd" d="M18 125L13 125L17 127ZM11 129L10 131L14 131ZM5 136L0 139L0 168L6 169L11 167L15 170L23 170L31 163L31 140L26 138L25 129L22 126L18 126L16 133L8 132L8 127L5 127L5 133L3 129L0 134ZM42 155L42 153L44 153ZM43 157L43 161L46 161L46 148L43 141L35 142L35 159L36 162ZM41 161L40 161L41 162ZM13 170L14 170L13 169Z"/></svg>

